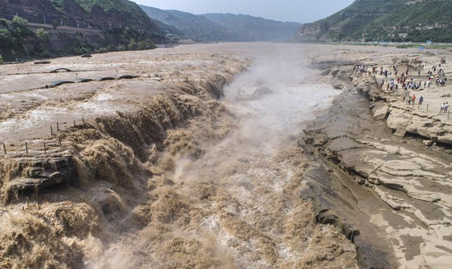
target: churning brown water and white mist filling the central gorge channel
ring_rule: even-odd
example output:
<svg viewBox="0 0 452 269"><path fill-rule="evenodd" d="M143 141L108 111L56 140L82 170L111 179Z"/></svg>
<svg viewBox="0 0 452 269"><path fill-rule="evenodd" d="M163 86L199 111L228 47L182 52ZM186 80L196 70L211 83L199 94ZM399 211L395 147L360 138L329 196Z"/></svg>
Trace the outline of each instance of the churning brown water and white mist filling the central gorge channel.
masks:
<svg viewBox="0 0 452 269"><path fill-rule="evenodd" d="M353 245L315 225L299 198L306 159L295 145L340 92L313 81L298 57L266 58L224 88L226 138L153 177L148 226L99 250L88 268L353 268ZM202 124L194 134L208 132Z"/></svg>

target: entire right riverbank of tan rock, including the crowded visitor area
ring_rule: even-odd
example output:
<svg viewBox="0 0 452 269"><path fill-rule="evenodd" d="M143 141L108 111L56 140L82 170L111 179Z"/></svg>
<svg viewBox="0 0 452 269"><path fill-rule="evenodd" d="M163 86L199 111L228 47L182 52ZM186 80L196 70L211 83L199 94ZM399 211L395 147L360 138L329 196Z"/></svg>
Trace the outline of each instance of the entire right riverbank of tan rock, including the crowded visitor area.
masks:
<svg viewBox="0 0 452 269"><path fill-rule="evenodd" d="M361 76L353 73L353 67L364 63L377 66L378 70L382 66L390 72L390 66L395 64L399 70L406 70L408 66L397 59L421 57L424 68L409 68L415 81L425 81L430 77L427 74L430 65L439 70L438 63L444 57L446 63L441 68L449 70L451 57L389 52L381 57L361 54L357 59L351 57L357 52L343 51L342 54L340 59L331 60L326 56L312 62L322 70L321 74L333 74L351 87L335 99L328 113L306 128L304 145L313 148L314 156L332 166L330 172L338 185L351 192L356 208L363 215L354 219L360 213L348 212L347 206L351 203L344 203L344 199L327 199L322 203L334 210L331 215L351 221L360 230L358 239L386 242L374 246L379 246L377 252L386 252L383 256L389 258L389 265L447 268L452 260L450 123L446 113L438 114L438 104L450 97L447 93L450 86L435 86L433 82L431 88L407 92L408 96L415 94L419 98L422 95L429 101L413 106L402 100L403 90L386 90L391 77ZM421 71L419 76L417 70ZM392 78L397 81L397 77ZM426 111L427 104L429 111ZM348 174L345 180L336 168ZM349 185L351 180L356 183ZM362 187L357 188L359 185ZM340 188L330 190L333 197L341 193ZM357 246L360 248L360 241Z"/></svg>

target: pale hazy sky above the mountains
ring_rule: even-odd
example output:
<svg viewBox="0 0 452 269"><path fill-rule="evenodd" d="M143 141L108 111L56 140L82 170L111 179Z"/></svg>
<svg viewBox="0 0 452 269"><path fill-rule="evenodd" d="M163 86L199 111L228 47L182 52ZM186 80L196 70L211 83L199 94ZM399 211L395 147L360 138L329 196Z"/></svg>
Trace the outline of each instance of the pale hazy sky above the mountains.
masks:
<svg viewBox="0 0 452 269"><path fill-rule="evenodd" d="M355 0L132 0L162 10L193 14L234 13L277 21L317 21L346 8Z"/></svg>

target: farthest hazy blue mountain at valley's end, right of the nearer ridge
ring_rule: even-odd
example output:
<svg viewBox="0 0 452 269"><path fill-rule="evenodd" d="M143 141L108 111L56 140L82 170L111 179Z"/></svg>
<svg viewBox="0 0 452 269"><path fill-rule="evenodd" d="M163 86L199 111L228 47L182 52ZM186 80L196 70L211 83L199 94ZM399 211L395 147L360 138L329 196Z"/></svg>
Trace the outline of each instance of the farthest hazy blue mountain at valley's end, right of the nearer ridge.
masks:
<svg viewBox="0 0 452 269"><path fill-rule="evenodd" d="M209 13L202 16L226 27L238 41L287 41L301 23L273 21L243 14Z"/></svg>

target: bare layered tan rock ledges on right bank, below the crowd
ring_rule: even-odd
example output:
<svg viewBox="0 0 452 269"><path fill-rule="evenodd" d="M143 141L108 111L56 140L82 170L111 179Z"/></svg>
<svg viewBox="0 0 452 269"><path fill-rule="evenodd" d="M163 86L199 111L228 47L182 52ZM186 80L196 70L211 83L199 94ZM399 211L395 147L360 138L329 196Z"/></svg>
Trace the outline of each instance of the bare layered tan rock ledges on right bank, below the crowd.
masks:
<svg viewBox="0 0 452 269"><path fill-rule="evenodd" d="M337 68L341 67L331 63L328 72L320 72L331 74ZM446 114L422 111L417 103L408 106L400 101L400 92L382 90L375 83L380 79L354 75L351 90L306 128L305 148L313 148L314 154L348 173L357 186L369 188L390 207L377 205L369 195L363 199L373 202L360 211L368 212L371 223L382 229L375 232L392 242L401 266L447 267L452 259L452 166L447 152L451 123ZM403 139L406 134L413 138ZM361 199L359 189L346 188Z"/></svg>

